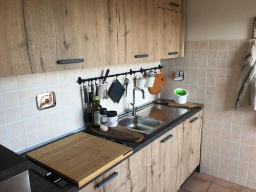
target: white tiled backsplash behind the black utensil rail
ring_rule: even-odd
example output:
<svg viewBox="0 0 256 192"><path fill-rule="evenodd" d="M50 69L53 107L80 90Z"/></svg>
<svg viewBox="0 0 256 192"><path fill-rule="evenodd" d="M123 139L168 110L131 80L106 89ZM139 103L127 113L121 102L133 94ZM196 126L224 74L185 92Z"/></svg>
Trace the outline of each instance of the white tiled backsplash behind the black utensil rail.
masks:
<svg viewBox="0 0 256 192"><path fill-rule="evenodd" d="M105 66L49 73L38 73L0 78L0 144L14 152L75 131L84 126L83 102L77 78L98 77L110 69L110 74L157 67L160 61L135 63L131 65ZM108 110L121 113L131 108L133 81L131 76L127 98L122 97L119 104L101 100L101 105ZM122 81L124 77L118 77ZM108 78L109 86L114 78ZM36 109L35 96L39 93L54 91L56 106L47 110ZM154 100L145 89L146 98L136 97L136 104Z"/></svg>

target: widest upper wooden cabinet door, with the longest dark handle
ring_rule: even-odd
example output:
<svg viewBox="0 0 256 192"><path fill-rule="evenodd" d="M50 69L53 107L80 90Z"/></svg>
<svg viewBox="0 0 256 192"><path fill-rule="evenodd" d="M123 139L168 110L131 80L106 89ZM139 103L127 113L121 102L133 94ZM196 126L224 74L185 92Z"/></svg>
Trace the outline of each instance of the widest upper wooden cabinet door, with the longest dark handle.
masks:
<svg viewBox="0 0 256 192"><path fill-rule="evenodd" d="M117 35L115 1L25 0L24 4L33 73L118 62L117 40L111 39ZM56 63L76 58L84 62Z"/></svg>

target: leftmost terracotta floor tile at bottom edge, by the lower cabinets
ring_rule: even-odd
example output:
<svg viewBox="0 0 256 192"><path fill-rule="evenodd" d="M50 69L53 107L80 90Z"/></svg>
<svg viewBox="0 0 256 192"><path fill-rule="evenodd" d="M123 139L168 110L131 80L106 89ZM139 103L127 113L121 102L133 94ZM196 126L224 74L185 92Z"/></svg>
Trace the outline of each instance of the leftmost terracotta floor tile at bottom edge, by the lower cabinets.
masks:
<svg viewBox="0 0 256 192"><path fill-rule="evenodd" d="M205 192L209 186L209 181L205 181L197 177L190 177L190 179L182 186L182 189L190 192Z"/></svg>

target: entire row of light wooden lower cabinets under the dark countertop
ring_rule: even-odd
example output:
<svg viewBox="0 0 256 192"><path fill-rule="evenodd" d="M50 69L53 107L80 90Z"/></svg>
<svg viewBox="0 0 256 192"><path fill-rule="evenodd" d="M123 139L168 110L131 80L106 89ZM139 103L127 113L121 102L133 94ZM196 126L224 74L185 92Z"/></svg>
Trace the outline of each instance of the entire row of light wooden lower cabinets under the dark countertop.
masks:
<svg viewBox="0 0 256 192"><path fill-rule="evenodd" d="M200 163L203 112L191 116L81 192L176 192ZM118 172L109 183L97 184Z"/></svg>

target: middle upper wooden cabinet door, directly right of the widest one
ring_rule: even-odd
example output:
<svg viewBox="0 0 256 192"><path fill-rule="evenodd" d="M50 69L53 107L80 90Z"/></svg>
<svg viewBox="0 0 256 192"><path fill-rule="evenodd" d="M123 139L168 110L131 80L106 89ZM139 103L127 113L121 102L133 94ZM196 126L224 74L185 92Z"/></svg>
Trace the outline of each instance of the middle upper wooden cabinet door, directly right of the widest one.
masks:
<svg viewBox="0 0 256 192"><path fill-rule="evenodd" d="M119 63L154 60L154 0L117 0Z"/></svg>

